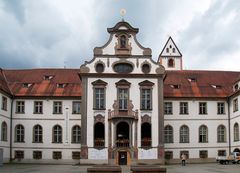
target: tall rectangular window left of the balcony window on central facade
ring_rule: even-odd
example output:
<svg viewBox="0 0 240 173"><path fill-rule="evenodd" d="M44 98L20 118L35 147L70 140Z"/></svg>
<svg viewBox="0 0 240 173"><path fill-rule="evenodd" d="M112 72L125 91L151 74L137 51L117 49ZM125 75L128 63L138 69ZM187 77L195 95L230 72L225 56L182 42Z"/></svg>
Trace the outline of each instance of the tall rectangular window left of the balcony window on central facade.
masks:
<svg viewBox="0 0 240 173"><path fill-rule="evenodd" d="M105 109L105 89L95 88L95 104L94 109Z"/></svg>

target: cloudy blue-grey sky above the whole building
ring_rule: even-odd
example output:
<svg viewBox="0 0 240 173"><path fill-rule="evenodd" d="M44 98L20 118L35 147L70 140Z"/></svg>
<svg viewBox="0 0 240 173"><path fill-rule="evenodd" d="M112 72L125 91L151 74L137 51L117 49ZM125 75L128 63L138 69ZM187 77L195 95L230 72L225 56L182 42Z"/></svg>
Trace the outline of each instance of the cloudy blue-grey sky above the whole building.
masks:
<svg viewBox="0 0 240 173"><path fill-rule="evenodd" d="M185 69L240 71L240 0L0 0L0 67L79 68L122 8L154 60L172 36Z"/></svg>

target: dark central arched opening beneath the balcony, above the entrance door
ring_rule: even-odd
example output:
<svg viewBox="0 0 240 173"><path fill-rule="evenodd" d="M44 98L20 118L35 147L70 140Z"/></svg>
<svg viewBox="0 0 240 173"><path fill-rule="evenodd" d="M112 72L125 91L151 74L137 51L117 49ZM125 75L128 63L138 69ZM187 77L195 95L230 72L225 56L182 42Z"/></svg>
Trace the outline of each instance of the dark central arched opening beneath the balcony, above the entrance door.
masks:
<svg viewBox="0 0 240 173"><path fill-rule="evenodd" d="M129 147L129 124L126 122L120 122L117 124L116 131L116 146L117 147Z"/></svg>

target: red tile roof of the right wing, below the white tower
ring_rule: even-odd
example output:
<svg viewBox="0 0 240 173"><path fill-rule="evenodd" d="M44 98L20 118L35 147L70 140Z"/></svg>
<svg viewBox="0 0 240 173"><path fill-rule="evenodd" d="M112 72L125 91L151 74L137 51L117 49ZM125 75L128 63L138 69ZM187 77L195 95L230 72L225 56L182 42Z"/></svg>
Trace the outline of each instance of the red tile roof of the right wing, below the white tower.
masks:
<svg viewBox="0 0 240 173"><path fill-rule="evenodd" d="M189 79L196 79L190 82ZM233 93L233 84L240 72L229 71L167 71L164 80L164 97L224 98ZM172 85L180 85L174 89ZM215 88L216 85L220 88Z"/></svg>

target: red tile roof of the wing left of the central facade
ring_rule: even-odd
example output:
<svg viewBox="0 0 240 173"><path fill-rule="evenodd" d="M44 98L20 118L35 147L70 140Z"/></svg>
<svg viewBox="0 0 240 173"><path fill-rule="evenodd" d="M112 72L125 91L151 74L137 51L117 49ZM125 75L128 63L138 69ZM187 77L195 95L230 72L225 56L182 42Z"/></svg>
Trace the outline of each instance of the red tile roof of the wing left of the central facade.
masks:
<svg viewBox="0 0 240 173"><path fill-rule="evenodd" d="M15 96L81 96L79 69L4 70L10 90ZM44 76L53 76L44 80ZM58 88L57 84L65 84ZM23 84L30 84L24 87Z"/></svg>

